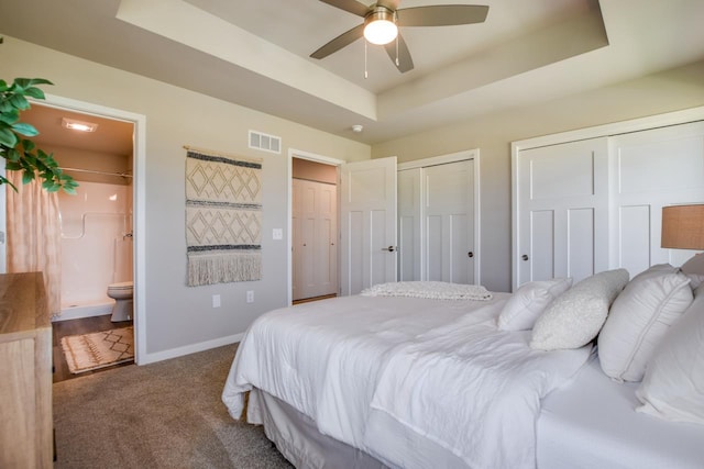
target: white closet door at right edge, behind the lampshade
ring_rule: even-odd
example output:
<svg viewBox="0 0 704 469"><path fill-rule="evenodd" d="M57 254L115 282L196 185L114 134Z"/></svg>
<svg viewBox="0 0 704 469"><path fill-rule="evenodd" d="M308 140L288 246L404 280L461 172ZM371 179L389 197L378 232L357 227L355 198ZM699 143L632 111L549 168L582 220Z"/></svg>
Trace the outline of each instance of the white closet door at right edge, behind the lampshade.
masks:
<svg viewBox="0 0 704 469"><path fill-rule="evenodd" d="M662 206L704 201L704 123L612 137L612 266L631 276L653 264L680 266L695 252L662 249Z"/></svg>

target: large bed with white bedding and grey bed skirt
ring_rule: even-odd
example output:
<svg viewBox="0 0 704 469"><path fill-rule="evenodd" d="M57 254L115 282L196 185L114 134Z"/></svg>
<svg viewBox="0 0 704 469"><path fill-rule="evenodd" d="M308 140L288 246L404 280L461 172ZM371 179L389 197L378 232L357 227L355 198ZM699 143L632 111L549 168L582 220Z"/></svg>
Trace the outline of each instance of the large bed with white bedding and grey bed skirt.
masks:
<svg viewBox="0 0 704 469"><path fill-rule="evenodd" d="M596 336L561 343L565 308L581 310L569 327L603 315L598 334L627 283L623 271L514 294L402 282L275 310L246 332L222 400L300 468L701 468L696 416L636 412L640 383L605 375ZM689 283L680 316L704 315Z"/></svg>

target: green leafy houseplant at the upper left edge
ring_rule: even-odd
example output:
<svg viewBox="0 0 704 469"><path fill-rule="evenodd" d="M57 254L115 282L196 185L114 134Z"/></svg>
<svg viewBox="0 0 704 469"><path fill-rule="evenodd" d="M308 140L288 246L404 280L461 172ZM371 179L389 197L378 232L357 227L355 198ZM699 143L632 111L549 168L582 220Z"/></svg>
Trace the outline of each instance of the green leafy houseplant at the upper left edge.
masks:
<svg viewBox="0 0 704 469"><path fill-rule="evenodd" d="M63 189L66 193L76 193L78 185L74 179L62 171L52 154L36 148L30 139L38 135L37 130L20 122L20 113L30 109L28 98L45 99L44 91L37 88L41 85L52 82L44 78L15 78L12 83L0 79L0 157L6 159L6 169L22 171L22 183L38 176L48 192ZM18 190L4 176L0 176L0 185Z"/></svg>

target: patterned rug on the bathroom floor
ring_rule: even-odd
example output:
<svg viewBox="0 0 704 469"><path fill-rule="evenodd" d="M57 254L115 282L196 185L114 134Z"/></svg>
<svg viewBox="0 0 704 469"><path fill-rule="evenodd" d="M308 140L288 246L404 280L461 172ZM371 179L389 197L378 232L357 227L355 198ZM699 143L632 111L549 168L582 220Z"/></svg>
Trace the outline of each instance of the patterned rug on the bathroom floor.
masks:
<svg viewBox="0 0 704 469"><path fill-rule="evenodd" d="M123 364L134 359L134 331L116 328L62 338L62 348L72 373Z"/></svg>

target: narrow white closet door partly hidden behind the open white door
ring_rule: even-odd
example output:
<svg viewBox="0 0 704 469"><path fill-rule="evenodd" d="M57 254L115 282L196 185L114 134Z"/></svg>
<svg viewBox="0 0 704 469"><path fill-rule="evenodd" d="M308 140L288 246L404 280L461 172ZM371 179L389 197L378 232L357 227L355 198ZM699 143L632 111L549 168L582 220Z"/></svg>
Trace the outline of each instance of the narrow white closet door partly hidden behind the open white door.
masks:
<svg viewBox="0 0 704 469"><path fill-rule="evenodd" d="M398 280L422 278L421 177L422 168L398 171Z"/></svg>

